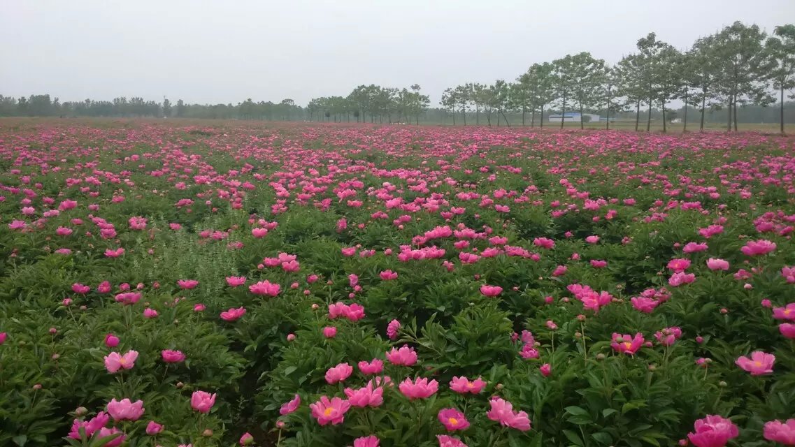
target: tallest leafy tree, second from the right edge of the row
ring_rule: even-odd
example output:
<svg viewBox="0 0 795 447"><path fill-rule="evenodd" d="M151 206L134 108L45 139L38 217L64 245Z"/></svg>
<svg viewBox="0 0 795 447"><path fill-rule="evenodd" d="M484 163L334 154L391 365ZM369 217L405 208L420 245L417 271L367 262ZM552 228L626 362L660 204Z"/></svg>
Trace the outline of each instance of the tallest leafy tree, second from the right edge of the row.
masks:
<svg viewBox="0 0 795 447"><path fill-rule="evenodd" d="M767 91L766 80L774 70L774 61L764 51L766 33L757 25L735 21L715 35L716 91L728 107L727 130L732 117L737 131L737 105L754 102L770 104L774 98Z"/></svg>

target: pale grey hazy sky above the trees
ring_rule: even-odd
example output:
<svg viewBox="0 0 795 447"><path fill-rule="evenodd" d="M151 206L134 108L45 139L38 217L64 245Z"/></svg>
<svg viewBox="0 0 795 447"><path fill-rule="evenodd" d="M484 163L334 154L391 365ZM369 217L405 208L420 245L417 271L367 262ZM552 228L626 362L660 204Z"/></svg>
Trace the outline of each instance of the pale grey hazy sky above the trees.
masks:
<svg viewBox="0 0 795 447"><path fill-rule="evenodd" d="M651 31L677 48L735 20L767 31L795 0L0 0L0 94L173 102L344 95L515 79Z"/></svg>

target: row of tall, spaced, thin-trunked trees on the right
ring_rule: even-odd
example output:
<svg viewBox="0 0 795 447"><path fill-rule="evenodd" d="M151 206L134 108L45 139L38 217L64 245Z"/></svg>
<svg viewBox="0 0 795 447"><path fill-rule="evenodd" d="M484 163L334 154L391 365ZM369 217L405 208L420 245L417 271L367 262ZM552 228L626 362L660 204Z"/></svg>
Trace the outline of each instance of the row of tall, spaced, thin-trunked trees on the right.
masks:
<svg viewBox="0 0 795 447"><path fill-rule="evenodd" d="M785 122L785 91L795 87L795 25L781 25L768 36L757 25L735 21L718 33L701 37L685 51L674 48L649 33L637 42L637 52L610 66L590 52L567 55L552 62L533 64L514 83L498 79L491 85L465 83L442 94L441 105L452 114L460 113L466 125L467 112L475 110L476 123L484 114L491 125L501 118L510 125L506 111L521 111L522 125L538 115L544 125L545 110L556 113L576 110L580 114L599 112L610 129L615 116L634 110L634 125L641 127L646 108L646 130L652 110L661 110L663 132L669 121L670 102L684 102L680 119L687 130L688 111L696 107L700 129L711 111L725 110L727 130L737 130L738 106L779 104L781 133ZM778 98L777 98L778 96ZM560 127L565 118L560 118ZM580 121L584 126L584 121Z"/></svg>

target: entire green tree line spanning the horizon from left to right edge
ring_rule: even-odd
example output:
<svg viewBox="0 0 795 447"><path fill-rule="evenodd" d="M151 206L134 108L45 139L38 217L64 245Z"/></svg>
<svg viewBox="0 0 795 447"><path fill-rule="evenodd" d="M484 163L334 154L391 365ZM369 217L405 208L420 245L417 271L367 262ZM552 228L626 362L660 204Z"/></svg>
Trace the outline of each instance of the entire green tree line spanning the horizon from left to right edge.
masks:
<svg viewBox="0 0 795 447"><path fill-rule="evenodd" d="M612 121L634 118L635 130L660 120L663 131L673 117L684 122L684 130L697 114L700 129L723 112L727 130L738 129L738 121L767 121L764 110L778 102L778 120L784 132L785 98L795 99L795 25L781 25L771 35L757 25L735 21L717 33L700 37L681 51L649 33L637 41L637 51L610 65L590 52L567 55L551 62L531 65L514 82L498 79L491 84L464 83L441 95L440 109L429 109L430 99L421 87L359 85L347 96L312 98L305 107L292 99L254 102L250 98L233 105L173 104L140 97L113 101L60 102L49 94L29 98L0 95L0 116L89 116L89 117L177 117L258 119L270 121L370 121L419 124L467 116L475 124L511 125L521 115L522 125L544 125L545 114L560 114L560 127L567 113L597 113L605 128ZM684 106L670 110L671 102ZM753 112L751 112L753 110ZM688 113L690 116L688 116ZM788 114L791 112L788 111ZM432 117L429 120L429 117ZM631 117L631 118L630 118ZM742 118L740 118L742 117ZM756 117L756 118L754 118ZM510 118L510 119L509 119ZM642 122L645 121L645 123ZM584 127L584 120L580 121Z"/></svg>

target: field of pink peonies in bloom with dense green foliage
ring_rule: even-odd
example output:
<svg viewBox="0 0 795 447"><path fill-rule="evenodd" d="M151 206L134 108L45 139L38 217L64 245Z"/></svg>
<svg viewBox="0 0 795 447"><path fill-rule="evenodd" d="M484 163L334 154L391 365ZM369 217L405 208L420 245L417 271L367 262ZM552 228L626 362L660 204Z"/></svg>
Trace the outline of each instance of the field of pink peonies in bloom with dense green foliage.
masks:
<svg viewBox="0 0 795 447"><path fill-rule="evenodd" d="M795 139L0 127L0 445L795 445Z"/></svg>

